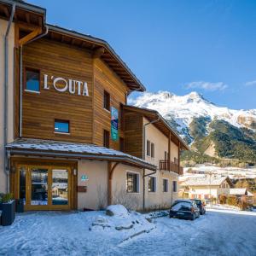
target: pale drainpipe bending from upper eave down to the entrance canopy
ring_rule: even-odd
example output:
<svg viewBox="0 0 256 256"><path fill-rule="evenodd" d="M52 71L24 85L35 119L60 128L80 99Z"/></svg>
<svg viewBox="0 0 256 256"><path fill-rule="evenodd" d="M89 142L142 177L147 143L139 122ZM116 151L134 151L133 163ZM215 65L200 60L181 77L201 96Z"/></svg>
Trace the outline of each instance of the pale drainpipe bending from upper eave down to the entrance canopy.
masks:
<svg viewBox="0 0 256 256"><path fill-rule="evenodd" d="M45 32L38 35L36 38L32 38L30 41L26 42L25 44L30 44L39 38L43 38L48 33L48 26L45 26ZM23 44L23 45L25 45ZM23 65L22 65L22 56L23 56L23 45L20 45L20 134L19 137L22 137L22 92L23 92Z"/></svg>

